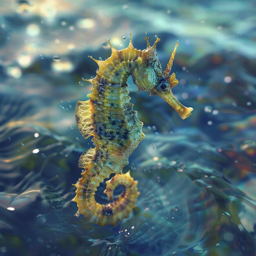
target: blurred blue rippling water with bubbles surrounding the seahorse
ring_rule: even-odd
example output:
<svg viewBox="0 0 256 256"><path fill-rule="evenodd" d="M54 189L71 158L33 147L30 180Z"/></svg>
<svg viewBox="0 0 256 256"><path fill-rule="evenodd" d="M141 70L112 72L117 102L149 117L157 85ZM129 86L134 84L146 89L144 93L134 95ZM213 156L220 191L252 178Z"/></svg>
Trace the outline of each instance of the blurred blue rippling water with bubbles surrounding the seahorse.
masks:
<svg viewBox="0 0 256 256"><path fill-rule="evenodd" d="M1 256L254 256L256 2L3 0L0 2ZM145 36L165 69L179 41L173 93L128 90L146 138L124 172L140 195L116 227L74 216L83 139L74 118L94 58ZM99 187L96 199L107 202Z"/></svg>

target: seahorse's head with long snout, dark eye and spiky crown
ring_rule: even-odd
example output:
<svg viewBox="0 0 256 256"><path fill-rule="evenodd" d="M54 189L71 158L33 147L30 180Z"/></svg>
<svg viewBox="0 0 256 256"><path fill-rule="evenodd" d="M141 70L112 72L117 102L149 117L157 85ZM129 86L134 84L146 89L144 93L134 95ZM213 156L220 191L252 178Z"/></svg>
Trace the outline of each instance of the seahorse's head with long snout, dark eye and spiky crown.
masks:
<svg viewBox="0 0 256 256"><path fill-rule="evenodd" d="M138 65L133 72L134 83L139 90L147 91L150 96L158 95L162 97L162 99L179 113L182 119L189 117L193 108L184 107L174 97L171 91L179 83L175 77L175 73L169 76L178 43L175 45L166 70L163 71L156 52L156 45L160 39L157 38L152 47L148 43L148 37L146 37L146 41L147 49L141 52L141 56L137 59Z"/></svg>

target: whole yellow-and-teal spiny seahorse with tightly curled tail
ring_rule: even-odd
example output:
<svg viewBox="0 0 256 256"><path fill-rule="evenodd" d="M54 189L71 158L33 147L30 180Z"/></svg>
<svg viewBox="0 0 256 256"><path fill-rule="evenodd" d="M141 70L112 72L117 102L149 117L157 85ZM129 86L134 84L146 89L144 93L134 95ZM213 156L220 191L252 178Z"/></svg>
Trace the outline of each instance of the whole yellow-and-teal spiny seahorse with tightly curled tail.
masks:
<svg viewBox="0 0 256 256"><path fill-rule="evenodd" d="M193 110L184 107L171 92L178 83L174 73L169 76L178 43L163 71L156 52L159 40L157 38L150 47L146 37L147 48L137 50L132 46L130 34L126 49L119 51L109 41L112 54L108 59L98 61L90 57L99 65L99 70L96 77L86 80L93 84L92 92L88 94L90 99L77 101L75 117L83 137L94 136L92 141L95 148L86 150L79 159L79 167L85 171L74 184L76 196L73 199L78 205L78 213L83 214L88 222L100 226L116 225L123 218L128 218L139 195L137 181L130 176L130 171L122 174L128 157L145 137L143 123L130 103L128 77L132 76L138 90L147 91L150 96L162 97L182 119L189 117ZM112 202L99 204L94 198L95 191L111 173L115 173L115 176L106 182L104 193ZM113 198L113 191L118 185L122 186L123 191Z"/></svg>

